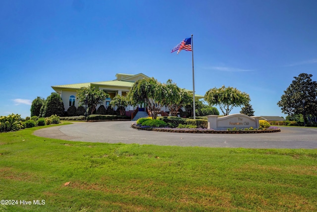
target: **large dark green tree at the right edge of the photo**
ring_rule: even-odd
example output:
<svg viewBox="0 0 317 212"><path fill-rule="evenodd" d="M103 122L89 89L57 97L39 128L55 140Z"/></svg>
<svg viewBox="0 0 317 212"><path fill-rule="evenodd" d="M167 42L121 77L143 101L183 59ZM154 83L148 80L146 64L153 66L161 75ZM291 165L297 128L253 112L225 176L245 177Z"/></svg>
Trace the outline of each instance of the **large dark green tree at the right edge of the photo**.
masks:
<svg viewBox="0 0 317 212"><path fill-rule="evenodd" d="M301 73L294 77L290 86L284 91L277 103L282 112L288 115L303 114L305 100L306 114L317 116L317 82L312 80L312 74Z"/></svg>

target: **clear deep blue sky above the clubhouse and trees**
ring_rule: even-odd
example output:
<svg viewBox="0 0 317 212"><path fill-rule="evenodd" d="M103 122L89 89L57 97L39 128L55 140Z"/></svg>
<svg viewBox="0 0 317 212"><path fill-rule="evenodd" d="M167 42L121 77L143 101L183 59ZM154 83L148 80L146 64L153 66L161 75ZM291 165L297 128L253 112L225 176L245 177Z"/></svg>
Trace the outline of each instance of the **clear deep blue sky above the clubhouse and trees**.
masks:
<svg viewBox="0 0 317 212"><path fill-rule="evenodd" d="M236 87L255 115L285 117L276 103L293 77L317 81L316 11L316 0L0 0L0 115L116 73L192 90L191 52L170 51L193 34L196 94Z"/></svg>

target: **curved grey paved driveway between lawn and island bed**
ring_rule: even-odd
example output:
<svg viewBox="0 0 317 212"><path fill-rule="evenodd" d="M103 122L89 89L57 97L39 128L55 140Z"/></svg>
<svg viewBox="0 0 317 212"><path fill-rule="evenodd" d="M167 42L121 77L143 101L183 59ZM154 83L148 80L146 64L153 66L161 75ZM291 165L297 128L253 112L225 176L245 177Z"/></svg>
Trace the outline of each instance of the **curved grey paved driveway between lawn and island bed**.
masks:
<svg viewBox="0 0 317 212"><path fill-rule="evenodd" d="M168 146L317 149L317 128L280 127L259 134L192 134L136 130L132 121L76 122L49 127L34 135L69 141L138 143Z"/></svg>

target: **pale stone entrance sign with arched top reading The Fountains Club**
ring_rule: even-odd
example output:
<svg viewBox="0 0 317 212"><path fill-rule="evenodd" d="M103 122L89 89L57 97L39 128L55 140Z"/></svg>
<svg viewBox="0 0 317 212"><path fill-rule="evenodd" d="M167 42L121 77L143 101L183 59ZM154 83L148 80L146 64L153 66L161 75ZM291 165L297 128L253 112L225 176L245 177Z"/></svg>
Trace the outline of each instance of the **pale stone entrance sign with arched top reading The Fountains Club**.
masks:
<svg viewBox="0 0 317 212"><path fill-rule="evenodd" d="M227 130L228 128L259 128L259 119L261 116L248 116L245 114L232 114L223 117L217 115L207 115L208 129Z"/></svg>

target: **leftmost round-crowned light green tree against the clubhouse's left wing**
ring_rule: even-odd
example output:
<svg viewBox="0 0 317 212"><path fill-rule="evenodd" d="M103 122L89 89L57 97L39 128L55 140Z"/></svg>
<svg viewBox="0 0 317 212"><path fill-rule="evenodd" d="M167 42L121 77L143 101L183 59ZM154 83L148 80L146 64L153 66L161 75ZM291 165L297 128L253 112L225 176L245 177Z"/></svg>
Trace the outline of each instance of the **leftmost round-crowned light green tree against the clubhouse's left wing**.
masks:
<svg viewBox="0 0 317 212"><path fill-rule="evenodd" d="M97 105L102 105L106 98L110 97L109 94L95 87L83 87L77 91L76 99L84 106L86 105L86 94L87 107L89 108L88 114L93 114L96 110Z"/></svg>

